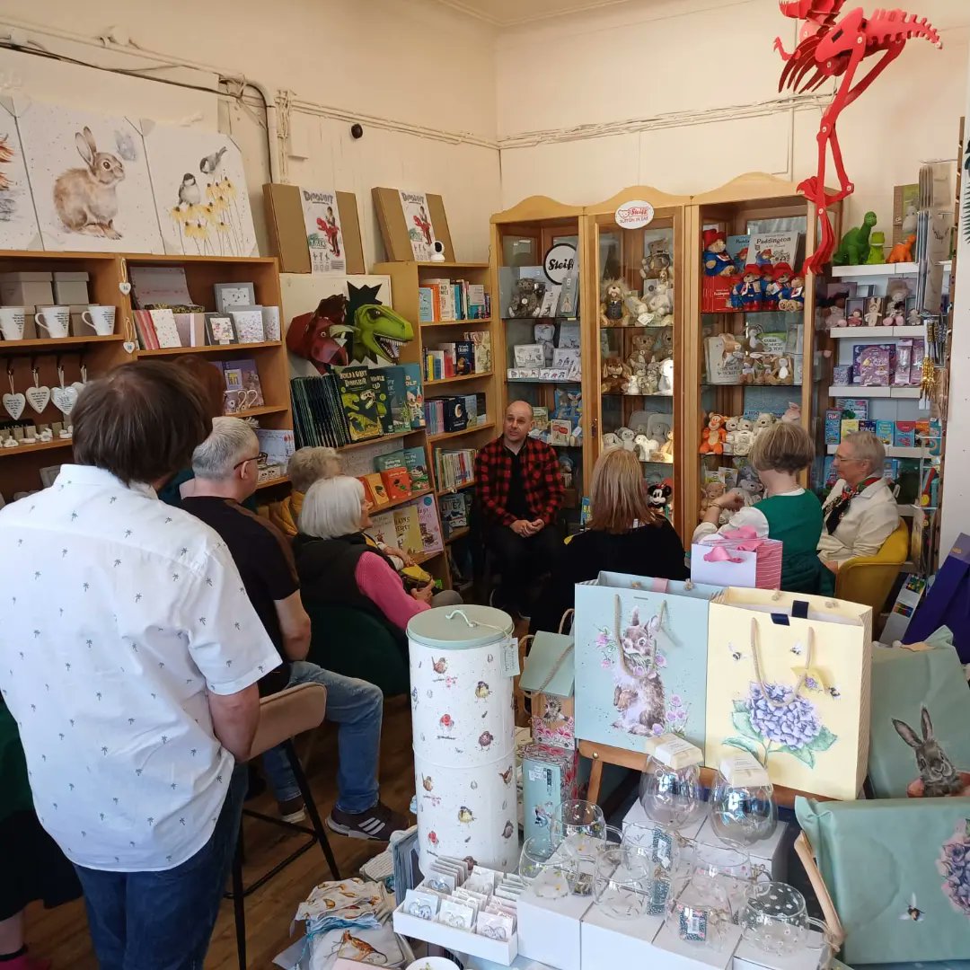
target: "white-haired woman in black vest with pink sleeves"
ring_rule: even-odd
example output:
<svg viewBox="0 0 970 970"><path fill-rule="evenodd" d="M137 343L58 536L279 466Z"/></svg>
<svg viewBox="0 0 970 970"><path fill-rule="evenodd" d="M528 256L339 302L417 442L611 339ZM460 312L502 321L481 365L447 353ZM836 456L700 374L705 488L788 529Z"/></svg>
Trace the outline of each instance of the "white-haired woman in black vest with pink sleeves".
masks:
<svg viewBox="0 0 970 970"><path fill-rule="evenodd" d="M371 525L371 503L356 478L338 475L314 482L293 542L300 588L307 605L360 609L402 642L412 616L462 599L450 590L435 594L431 584L408 594L390 560L365 534Z"/></svg>

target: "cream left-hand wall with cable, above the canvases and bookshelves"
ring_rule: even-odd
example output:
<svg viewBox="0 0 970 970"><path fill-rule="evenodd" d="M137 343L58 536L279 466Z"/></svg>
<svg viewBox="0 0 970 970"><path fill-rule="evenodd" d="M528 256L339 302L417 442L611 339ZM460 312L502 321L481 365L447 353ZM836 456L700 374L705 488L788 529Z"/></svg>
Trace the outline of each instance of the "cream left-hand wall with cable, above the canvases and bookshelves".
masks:
<svg viewBox="0 0 970 970"><path fill-rule="evenodd" d="M50 25L53 31L92 38L114 25L143 49L245 75L274 94L286 89L295 99L325 108L495 140L492 29L427 0L91 0L86 5L5 0L0 36L11 24L26 25L47 49L98 64L136 66L139 62L129 56L69 44L43 30ZM29 67L12 66L12 58ZM24 90L55 100L163 120L200 111L202 123L215 123L214 99L207 95L189 97L176 87L76 70L83 81L77 73L64 77L50 61L0 51L0 88L18 74ZM36 86L38 72L44 74L42 91ZM213 80L209 71L195 75L194 82L211 85ZM242 146L266 251L260 186L269 180L269 169L259 118L257 112L224 104L219 127ZM289 180L357 193L369 265L384 256L371 204L375 185L442 195L458 258L488 258L489 216L501 208L494 147L448 144L376 124L365 124L365 137L354 141L349 120L300 110L293 111L291 121L309 157L291 161Z"/></svg>

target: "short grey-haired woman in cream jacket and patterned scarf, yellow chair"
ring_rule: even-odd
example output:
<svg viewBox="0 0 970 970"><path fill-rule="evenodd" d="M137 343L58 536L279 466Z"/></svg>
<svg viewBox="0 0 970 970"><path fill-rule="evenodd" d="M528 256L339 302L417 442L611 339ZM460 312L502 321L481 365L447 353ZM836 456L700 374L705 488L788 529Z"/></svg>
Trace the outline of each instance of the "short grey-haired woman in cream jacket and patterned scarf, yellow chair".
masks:
<svg viewBox="0 0 970 970"><path fill-rule="evenodd" d="M875 556L899 524L896 500L883 477L886 449L870 431L847 435L835 449L839 475L822 507L819 558L832 572L858 556Z"/></svg>

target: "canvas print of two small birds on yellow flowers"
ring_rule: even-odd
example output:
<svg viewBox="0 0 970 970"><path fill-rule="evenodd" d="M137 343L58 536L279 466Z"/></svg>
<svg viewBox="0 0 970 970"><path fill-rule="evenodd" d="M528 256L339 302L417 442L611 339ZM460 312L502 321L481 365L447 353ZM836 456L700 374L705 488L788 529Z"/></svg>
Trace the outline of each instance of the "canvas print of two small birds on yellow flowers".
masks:
<svg viewBox="0 0 970 970"><path fill-rule="evenodd" d="M143 120L142 131L165 251L258 256L239 146L204 128Z"/></svg>

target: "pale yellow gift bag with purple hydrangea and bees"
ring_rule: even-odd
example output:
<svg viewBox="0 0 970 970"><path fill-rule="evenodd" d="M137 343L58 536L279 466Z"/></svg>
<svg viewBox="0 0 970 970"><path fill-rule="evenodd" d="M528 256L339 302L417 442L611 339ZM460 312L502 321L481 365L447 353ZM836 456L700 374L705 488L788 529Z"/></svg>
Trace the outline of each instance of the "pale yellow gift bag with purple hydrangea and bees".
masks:
<svg viewBox="0 0 970 970"><path fill-rule="evenodd" d="M857 796L869 747L872 610L729 587L710 606L705 763L750 752L775 785Z"/></svg>

